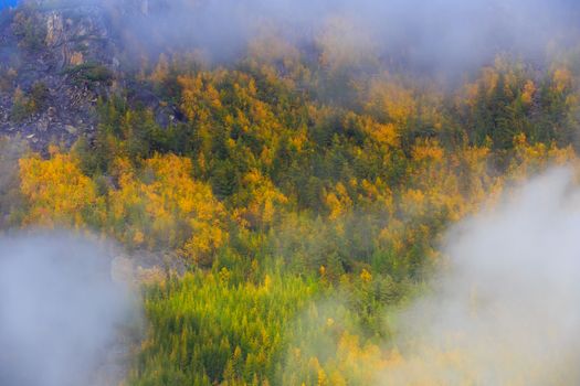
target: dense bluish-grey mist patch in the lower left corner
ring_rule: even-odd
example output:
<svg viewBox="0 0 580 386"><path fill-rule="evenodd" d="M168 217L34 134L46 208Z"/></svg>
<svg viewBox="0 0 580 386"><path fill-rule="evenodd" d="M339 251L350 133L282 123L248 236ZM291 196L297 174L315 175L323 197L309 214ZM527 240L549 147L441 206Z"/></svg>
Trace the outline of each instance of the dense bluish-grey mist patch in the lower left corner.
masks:
<svg viewBox="0 0 580 386"><path fill-rule="evenodd" d="M117 385L119 329L137 310L104 245L64 233L0 238L0 384Z"/></svg>

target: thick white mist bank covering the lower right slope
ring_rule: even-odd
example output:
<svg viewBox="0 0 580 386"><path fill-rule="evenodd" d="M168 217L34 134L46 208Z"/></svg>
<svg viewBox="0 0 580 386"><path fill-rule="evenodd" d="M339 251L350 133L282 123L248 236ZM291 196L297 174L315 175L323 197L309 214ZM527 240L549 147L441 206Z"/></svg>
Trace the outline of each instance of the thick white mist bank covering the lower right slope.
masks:
<svg viewBox="0 0 580 386"><path fill-rule="evenodd" d="M556 169L454 226L379 385L577 385L580 187Z"/></svg>

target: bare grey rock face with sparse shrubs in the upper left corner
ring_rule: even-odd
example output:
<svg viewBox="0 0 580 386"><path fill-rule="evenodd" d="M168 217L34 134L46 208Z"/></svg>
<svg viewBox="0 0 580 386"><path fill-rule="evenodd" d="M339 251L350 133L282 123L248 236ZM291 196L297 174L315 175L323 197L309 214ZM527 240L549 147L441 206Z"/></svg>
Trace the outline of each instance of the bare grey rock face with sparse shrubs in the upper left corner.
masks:
<svg viewBox="0 0 580 386"><path fill-rule="evenodd" d="M141 57L131 56L135 36L125 18L146 23L152 4L24 0L0 14L0 136L20 135L36 151L49 143L70 147L80 137L91 141L98 125L97 103L113 95L150 109L162 127L182 121L175 105L131 75Z"/></svg>

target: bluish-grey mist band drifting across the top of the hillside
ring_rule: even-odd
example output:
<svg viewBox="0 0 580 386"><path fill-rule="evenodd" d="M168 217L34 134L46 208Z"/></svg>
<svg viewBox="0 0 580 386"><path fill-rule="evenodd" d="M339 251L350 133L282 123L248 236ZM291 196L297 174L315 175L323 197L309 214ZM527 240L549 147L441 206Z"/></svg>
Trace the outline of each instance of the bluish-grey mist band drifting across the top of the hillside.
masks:
<svg viewBox="0 0 580 386"><path fill-rule="evenodd" d="M230 60L265 32L304 46L312 42L324 45L319 36L330 32L336 34L336 44L365 46L387 63L420 71L465 69L489 63L502 52L541 61L548 46L573 43L580 15L580 7L572 0L133 3L140 3L140 12L124 15L123 25L131 30L133 46L154 52L197 47ZM360 54L360 50L352 52Z"/></svg>

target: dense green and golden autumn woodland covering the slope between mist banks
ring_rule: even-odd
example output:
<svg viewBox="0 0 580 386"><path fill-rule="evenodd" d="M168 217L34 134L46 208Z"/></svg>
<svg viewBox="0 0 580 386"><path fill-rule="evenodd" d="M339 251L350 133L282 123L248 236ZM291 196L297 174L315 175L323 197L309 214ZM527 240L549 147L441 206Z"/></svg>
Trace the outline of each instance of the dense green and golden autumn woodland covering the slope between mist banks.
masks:
<svg viewBox="0 0 580 386"><path fill-rule="evenodd" d="M186 261L143 285L127 385L372 384L404 361L392 314L444 266L447 226L580 146L573 54L498 55L450 85L267 36L233 62L164 53L131 76L179 121L117 89L91 140L6 140L6 168L20 159L1 192L4 226ZM38 95L14 92L13 114Z"/></svg>

